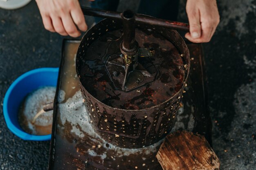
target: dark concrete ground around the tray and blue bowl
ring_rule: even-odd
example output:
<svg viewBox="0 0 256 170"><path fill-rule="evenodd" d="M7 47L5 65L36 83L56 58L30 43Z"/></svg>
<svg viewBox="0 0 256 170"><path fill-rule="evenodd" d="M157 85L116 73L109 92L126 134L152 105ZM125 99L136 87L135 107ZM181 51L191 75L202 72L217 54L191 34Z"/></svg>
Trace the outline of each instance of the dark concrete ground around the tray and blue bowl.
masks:
<svg viewBox="0 0 256 170"><path fill-rule="evenodd" d="M181 0L180 21L186 20ZM135 0L123 0L120 9ZM85 2L86 3L86 2ZM221 170L256 167L256 0L218 0L221 22L204 44L213 119L213 149ZM89 18L90 24L92 23ZM24 141L7 128L4 94L22 73L58 67L64 37L43 28L36 3L0 9L0 169L46 170L49 141Z"/></svg>

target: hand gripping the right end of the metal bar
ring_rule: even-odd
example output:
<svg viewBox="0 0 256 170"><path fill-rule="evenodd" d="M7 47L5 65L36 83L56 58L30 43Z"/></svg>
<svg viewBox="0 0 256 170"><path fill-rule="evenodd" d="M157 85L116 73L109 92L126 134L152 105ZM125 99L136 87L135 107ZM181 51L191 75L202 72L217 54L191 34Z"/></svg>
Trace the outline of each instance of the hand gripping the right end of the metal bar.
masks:
<svg viewBox="0 0 256 170"><path fill-rule="evenodd" d="M195 43L209 42L220 22L216 0L187 0L189 33L185 37Z"/></svg>

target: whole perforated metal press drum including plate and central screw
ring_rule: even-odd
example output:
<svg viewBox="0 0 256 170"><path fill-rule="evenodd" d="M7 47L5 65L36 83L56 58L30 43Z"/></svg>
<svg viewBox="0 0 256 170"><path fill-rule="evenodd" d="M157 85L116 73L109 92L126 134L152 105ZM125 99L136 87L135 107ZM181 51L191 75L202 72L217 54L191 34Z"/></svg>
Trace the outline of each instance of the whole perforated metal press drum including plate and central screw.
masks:
<svg viewBox="0 0 256 170"><path fill-rule="evenodd" d="M177 31L161 26L163 20L130 11L116 18L105 14L96 15L107 19L83 36L76 55L85 107L92 127L109 143L149 146L173 127L189 50Z"/></svg>

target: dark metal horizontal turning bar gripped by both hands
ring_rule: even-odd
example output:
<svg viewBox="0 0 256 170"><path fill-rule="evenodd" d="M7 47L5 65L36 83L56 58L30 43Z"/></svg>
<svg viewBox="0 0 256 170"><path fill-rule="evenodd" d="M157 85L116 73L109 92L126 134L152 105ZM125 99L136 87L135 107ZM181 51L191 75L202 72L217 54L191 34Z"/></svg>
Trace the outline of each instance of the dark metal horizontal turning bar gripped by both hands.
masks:
<svg viewBox="0 0 256 170"><path fill-rule="evenodd" d="M88 7L81 7L84 15L91 15L95 17L111 18L116 20L122 20L121 13L115 11L105 11L101 9L93 9ZM153 26L165 27L169 29L176 29L180 31L189 32L189 24L182 22L175 22L169 20L163 20L154 18L148 15L135 14L135 22L138 24L150 24Z"/></svg>

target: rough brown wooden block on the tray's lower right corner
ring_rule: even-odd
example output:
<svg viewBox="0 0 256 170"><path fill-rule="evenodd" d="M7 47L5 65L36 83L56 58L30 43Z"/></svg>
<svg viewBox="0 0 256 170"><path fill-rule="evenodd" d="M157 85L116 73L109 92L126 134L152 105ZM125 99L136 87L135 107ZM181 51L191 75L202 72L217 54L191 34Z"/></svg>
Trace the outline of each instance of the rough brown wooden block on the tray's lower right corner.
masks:
<svg viewBox="0 0 256 170"><path fill-rule="evenodd" d="M192 132L168 135L156 157L164 170L220 169L220 161L207 140Z"/></svg>

